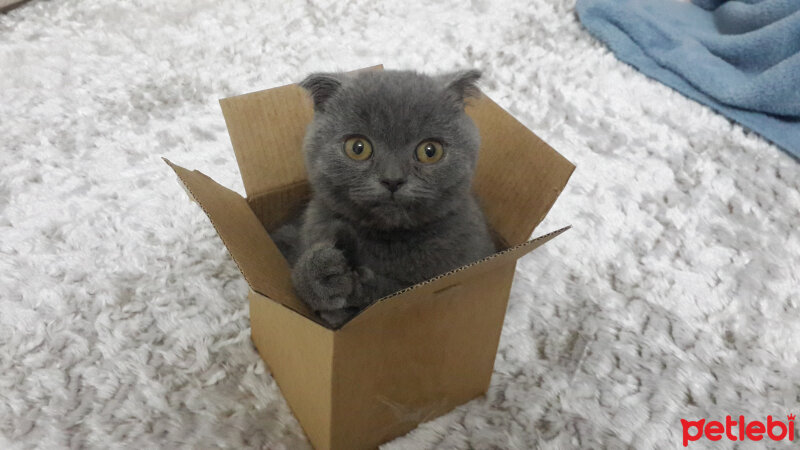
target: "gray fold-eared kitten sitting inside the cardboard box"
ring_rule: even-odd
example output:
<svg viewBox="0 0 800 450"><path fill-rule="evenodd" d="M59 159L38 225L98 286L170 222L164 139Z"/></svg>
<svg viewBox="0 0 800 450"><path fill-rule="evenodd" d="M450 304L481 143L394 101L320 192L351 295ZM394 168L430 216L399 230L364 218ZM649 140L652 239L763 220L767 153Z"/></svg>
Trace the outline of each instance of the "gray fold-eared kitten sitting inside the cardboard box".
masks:
<svg viewBox="0 0 800 450"><path fill-rule="evenodd" d="M333 327L370 302L491 255L464 112L477 71L312 74L304 152L312 198L275 233L297 294Z"/></svg>

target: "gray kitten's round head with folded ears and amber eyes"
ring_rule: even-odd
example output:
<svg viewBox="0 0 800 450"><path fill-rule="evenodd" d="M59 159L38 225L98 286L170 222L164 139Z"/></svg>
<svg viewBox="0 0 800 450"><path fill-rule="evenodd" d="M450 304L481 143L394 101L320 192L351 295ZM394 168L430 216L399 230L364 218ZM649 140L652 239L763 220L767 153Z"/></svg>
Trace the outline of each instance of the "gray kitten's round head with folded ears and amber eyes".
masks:
<svg viewBox="0 0 800 450"><path fill-rule="evenodd" d="M314 194L351 221L412 229L468 195L480 136L464 112L477 71L313 74L305 158Z"/></svg>

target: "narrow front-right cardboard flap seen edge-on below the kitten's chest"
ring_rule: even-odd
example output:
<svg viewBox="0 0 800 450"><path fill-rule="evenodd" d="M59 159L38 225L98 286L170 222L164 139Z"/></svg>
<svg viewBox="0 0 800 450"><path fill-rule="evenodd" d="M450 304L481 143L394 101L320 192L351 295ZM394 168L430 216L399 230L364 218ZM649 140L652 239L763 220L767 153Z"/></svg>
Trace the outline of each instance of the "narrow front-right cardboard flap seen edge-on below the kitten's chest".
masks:
<svg viewBox="0 0 800 450"><path fill-rule="evenodd" d="M388 297L384 297L368 306L356 317L345 323L342 328L356 327L358 326L359 322L368 321L372 316L391 313L392 305L397 302L409 302L413 301L414 299L426 302L436 301L436 294L449 291L450 289L455 289L464 280L478 277L481 273L484 273L488 270L516 261L517 259L544 245L551 239L569 230L570 228L570 226L567 226L551 233L547 233L535 239L531 239L522 244L495 253L494 255L488 256L480 261L467 264L466 266L461 266L457 269L453 269L447 273L431 278L430 280L407 287ZM430 298L430 295L433 295L433 298Z"/></svg>

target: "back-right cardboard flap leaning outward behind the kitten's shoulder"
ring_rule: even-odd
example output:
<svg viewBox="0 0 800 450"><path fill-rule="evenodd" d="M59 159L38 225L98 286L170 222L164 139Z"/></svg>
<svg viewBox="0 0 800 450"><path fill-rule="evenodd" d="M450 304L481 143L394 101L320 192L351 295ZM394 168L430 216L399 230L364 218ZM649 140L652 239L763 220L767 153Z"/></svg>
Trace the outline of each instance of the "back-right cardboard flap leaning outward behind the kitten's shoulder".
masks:
<svg viewBox="0 0 800 450"><path fill-rule="evenodd" d="M544 219L575 166L486 95L472 100L467 114L481 134L473 188L492 229L517 245Z"/></svg>

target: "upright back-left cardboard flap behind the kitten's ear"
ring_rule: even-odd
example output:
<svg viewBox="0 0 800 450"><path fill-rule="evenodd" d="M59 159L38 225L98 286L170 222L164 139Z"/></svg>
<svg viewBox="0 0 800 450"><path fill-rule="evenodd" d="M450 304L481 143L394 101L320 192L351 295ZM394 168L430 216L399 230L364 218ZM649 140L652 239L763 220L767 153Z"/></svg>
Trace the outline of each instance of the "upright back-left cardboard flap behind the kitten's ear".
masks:
<svg viewBox="0 0 800 450"><path fill-rule="evenodd" d="M248 198L306 180L303 138L314 107L303 88L289 84L219 104Z"/></svg>

